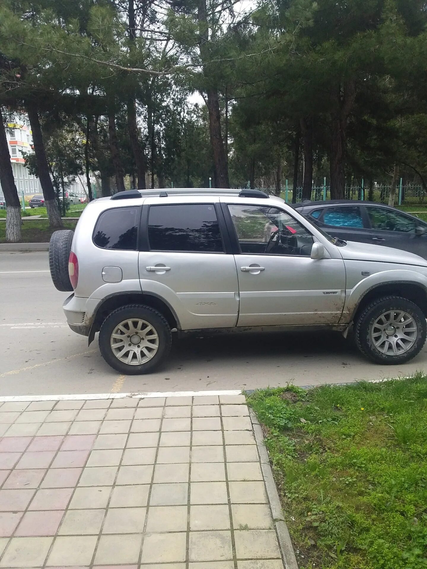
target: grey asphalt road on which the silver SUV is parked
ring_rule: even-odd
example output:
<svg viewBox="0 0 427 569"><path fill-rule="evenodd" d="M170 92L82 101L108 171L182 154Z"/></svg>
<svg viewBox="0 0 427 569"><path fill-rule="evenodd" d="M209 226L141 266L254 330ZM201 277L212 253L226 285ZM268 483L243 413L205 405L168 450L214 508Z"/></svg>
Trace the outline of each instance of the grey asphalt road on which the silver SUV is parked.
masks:
<svg viewBox="0 0 427 569"><path fill-rule="evenodd" d="M120 376L97 341L73 333L51 282L47 253L0 253L0 395L256 389L379 379L427 370L427 348L412 362L379 366L339 334L194 335L175 340L161 370Z"/></svg>

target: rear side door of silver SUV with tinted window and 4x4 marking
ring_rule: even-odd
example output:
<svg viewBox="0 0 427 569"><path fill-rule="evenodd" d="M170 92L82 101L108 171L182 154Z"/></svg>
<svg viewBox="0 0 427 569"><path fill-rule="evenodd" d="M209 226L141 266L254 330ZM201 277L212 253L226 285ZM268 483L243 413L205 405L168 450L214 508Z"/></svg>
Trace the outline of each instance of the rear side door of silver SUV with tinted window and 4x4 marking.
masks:
<svg viewBox="0 0 427 569"><path fill-rule="evenodd" d="M239 284L220 229L222 212L212 202L158 201L148 199L143 206L142 291L169 302L183 329L234 327Z"/></svg>

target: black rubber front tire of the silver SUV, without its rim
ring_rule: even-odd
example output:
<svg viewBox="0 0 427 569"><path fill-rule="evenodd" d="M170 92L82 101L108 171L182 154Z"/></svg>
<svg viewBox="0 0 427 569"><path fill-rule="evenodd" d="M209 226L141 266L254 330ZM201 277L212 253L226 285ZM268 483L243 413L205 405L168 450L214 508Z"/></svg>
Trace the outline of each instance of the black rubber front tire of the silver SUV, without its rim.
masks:
<svg viewBox="0 0 427 569"><path fill-rule="evenodd" d="M418 333L416 340L407 352L396 355L384 354L383 352L380 352L372 342L371 328L373 324L381 314L384 314L384 312L389 310L402 310L407 312L412 316L417 325ZM401 298L401 296L383 296L382 298L373 300L363 308L362 312L360 312L354 326L355 341L360 352L362 352L369 360L372 360L377 364L403 364L404 362L412 360L413 357L420 353L424 346L426 335L426 319L421 308L413 302L410 302L410 300Z"/></svg>

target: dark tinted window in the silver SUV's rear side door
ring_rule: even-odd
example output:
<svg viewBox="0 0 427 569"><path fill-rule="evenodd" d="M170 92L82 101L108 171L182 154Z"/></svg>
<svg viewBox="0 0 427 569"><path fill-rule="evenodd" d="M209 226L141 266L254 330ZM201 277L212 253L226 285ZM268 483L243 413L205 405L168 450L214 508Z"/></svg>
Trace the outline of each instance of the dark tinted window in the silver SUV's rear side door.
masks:
<svg viewBox="0 0 427 569"><path fill-rule="evenodd" d="M148 240L155 251L223 252L213 204L151 205Z"/></svg>

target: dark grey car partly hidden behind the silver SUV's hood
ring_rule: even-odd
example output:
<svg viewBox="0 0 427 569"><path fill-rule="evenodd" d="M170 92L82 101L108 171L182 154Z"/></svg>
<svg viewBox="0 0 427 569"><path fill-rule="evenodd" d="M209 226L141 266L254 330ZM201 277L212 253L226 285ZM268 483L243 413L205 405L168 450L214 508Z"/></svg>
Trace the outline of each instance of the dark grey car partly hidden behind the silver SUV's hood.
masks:
<svg viewBox="0 0 427 569"><path fill-rule="evenodd" d="M369 201L303 201L292 207L332 237L403 249L427 259L427 223Z"/></svg>

